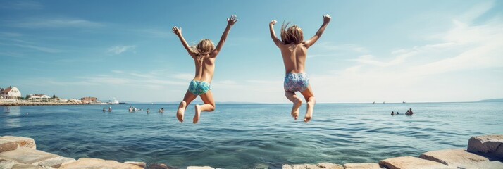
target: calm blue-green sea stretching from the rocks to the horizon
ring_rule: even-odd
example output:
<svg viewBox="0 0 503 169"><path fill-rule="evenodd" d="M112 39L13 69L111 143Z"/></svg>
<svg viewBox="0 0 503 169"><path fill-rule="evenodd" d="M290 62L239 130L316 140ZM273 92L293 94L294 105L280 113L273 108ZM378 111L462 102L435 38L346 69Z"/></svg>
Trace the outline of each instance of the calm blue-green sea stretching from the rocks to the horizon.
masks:
<svg viewBox="0 0 503 169"><path fill-rule="evenodd" d="M72 158L279 168L284 163L377 163L437 149L466 149L472 135L503 134L503 103L318 104L313 120L290 117L290 104L217 104L192 124L176 104L11 106L0 135L32 137L37 149ZM128 107L153 112L129 113ZM156 110L164 108L165 113ZM413 116L404 115L412 108ZM0 107L2 111L4 107ZM400 115L392 116L391 111ZM26 114L27 113L27 114Z"/></svg>

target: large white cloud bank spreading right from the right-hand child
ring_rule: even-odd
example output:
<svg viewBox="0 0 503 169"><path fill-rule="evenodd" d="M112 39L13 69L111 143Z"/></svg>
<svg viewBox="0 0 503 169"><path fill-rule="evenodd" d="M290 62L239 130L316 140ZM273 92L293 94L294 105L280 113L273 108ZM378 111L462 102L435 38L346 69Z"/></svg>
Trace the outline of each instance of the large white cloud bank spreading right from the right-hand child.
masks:
<svg viewBox="0 0 503 169"><path fill-rule="evenodd" d="M494 78L490 71L503 68L503 22L499 19L472 22L490 7L486 4L475 7L464 16L464 21L453 19L448 30L430 32L425 37L429 44L395 49L385 57L365 54L352 60L355 64L344 70L311 75L315 95L318 100L333 100L340 95L344 96L340 100L368 102L410 98L471 101L466 98L501 93L501 89L494 87L480 89L503 81L501 77ZM487 84L482 77L457 76L475 70L493 77L494 81Z"/></svg>

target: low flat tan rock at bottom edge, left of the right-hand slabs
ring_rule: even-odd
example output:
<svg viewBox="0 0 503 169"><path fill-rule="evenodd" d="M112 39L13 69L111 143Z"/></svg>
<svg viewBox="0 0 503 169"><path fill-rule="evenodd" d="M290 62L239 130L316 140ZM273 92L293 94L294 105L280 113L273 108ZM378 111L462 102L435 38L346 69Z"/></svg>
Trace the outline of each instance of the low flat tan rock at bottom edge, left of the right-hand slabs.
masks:
<svg viewBox="0 0 503 169"><path fill-rule="evenodd" d="M379 161L380 165L385 165L389 169L438 169L438 168L449 168L447 165L442 163L437 163L435 161L428 161L421 158L413 156L402 156L395 158L387 158L385 160Z"/></svg>

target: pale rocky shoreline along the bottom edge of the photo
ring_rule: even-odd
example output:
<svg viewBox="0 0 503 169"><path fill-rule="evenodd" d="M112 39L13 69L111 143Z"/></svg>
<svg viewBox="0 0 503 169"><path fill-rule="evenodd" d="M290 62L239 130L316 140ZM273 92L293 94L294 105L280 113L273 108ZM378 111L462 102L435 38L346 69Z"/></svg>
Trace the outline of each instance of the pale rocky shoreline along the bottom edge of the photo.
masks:
<svg viewBox="0 0 503 169"><path fill-rule="evenodd" d="M68 158L37 150L35 140L28 137L0 137L0 168L172 168L166 164L110 161L99 158ZM211 169L209 166L189 166L189 169ZM269 168L268 166L257 168ZM418 157L387 158L379 163L285 164L283 169L399 169L399 168L503 168L503 135L474 136L468 149L428 151Z"/></svg>

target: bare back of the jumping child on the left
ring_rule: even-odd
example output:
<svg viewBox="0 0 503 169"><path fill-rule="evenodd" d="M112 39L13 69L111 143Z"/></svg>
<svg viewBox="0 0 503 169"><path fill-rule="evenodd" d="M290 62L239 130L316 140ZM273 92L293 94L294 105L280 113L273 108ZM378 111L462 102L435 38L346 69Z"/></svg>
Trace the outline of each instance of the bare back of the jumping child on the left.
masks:
<svg viewBox="0 0 503 169"><path fill-rule="evenodd" d="M201 64L197 56L192 56L194 58L194 64L196 66L196 73L194 79L198 81L204 81L211 83L213 79L213 73L215 71L215 60L216 55L212 54L203 58L203 63Z"/></svg>

